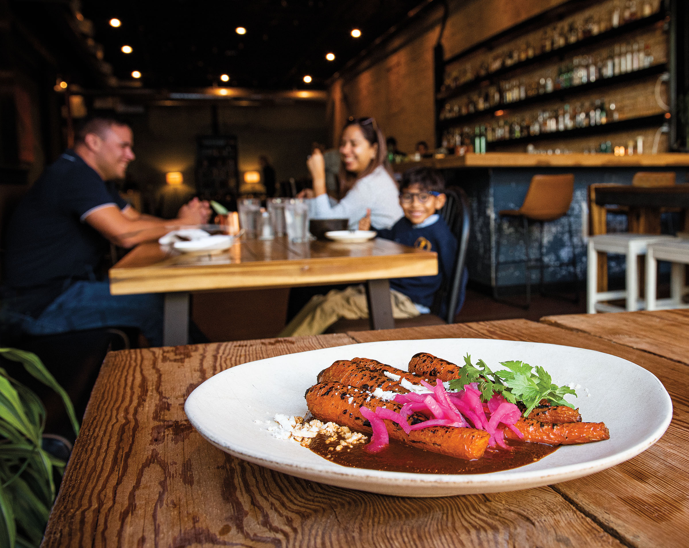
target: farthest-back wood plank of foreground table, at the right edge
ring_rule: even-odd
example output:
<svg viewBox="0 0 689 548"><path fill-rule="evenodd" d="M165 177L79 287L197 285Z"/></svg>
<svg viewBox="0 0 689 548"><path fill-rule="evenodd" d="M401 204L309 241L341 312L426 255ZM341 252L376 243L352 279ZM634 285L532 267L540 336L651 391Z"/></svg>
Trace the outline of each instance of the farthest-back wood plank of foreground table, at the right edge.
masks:
<svg viewBox="0 0 689 548"><path fill-rule="evenodd" d="M541 322L589 333L689 365L689 310L546 316Z"/></svg>

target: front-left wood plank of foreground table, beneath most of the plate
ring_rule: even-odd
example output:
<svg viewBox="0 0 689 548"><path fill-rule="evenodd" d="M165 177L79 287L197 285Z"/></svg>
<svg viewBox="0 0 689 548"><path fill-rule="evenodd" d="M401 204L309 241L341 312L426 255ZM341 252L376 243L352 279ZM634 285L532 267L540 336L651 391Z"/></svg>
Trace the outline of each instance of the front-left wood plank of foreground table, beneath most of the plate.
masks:
<svg viewBox="0 0 689 548"><path fill-rule="evenodd" d="M185 417L189 392L220 370L351 342L340 334L111 352L43 546L623 545L548 487L437 499L329 487L235 459Z"/></svg>

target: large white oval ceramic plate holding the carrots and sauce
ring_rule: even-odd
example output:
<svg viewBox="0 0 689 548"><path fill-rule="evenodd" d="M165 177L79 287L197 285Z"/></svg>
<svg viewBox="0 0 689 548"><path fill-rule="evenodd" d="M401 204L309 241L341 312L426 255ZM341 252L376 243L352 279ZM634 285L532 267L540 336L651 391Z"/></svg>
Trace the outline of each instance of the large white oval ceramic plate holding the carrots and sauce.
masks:
<svg viewBox="0 0 689 548"><path fill-rule="evenodd" d="M431 352L454 363L463 363L469 352L474 361L482 358L493 370L499 361L511 359L543 366L554 383L580 385L578 399L568 398L584 421L606 423L610 439L560 447L533 464L491 474L411 474L340 466L296 441L276 439L267 430L265 421L276 413L303 416L307 412L304 392L316 382L318 372L336 359L367 357L407 370L417 352ZM672 402L650 372L594 350L492 339L426 339L353 344L244 363L198 386L187 398L185 412L194 428L216 447L285 474L374 493L449 496L550 485L631 459L663 435L672 418Z"/></svg>

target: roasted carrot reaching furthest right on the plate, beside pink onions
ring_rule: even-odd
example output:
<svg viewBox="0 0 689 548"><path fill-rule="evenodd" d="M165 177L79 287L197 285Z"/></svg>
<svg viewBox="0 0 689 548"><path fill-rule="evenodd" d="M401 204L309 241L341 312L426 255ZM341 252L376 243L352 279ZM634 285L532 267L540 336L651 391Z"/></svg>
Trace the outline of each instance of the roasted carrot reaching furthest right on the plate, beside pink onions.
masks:
<svg viewBox="0 0 689 548"><path fill-rule="evenodd" d="M524 441L548 443L549 445L573 445L610 439L605 423L562 423L549 424L531 419L519 419L517 430L524 434ZM505 436L519 439L519 436L505 428Z"/></svg>

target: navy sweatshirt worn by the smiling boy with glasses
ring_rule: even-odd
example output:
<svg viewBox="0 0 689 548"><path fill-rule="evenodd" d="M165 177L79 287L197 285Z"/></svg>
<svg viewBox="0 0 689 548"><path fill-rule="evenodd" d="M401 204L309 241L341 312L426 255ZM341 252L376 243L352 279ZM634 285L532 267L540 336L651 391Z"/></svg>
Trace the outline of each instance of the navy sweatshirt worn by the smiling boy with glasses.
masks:
<svg viewBox="0 0 689 548"><path fill-rule="evenodd" d="M402 217L389 230L379 230L378 236L386 240L393 240L405 246L435 251L438 253L438 274L435 276L415 276L409 278L393 278L390 287L407 295L415 304L422 304L429 308L433 304L433 295L440 288L443 276L451 280L452 270L457 255L457 238L451 233L445 220L440 215L433 215L435 222L429 217L419 226L415 226L406 217ZM426 225L426 222L431 224Z"/></svg>

